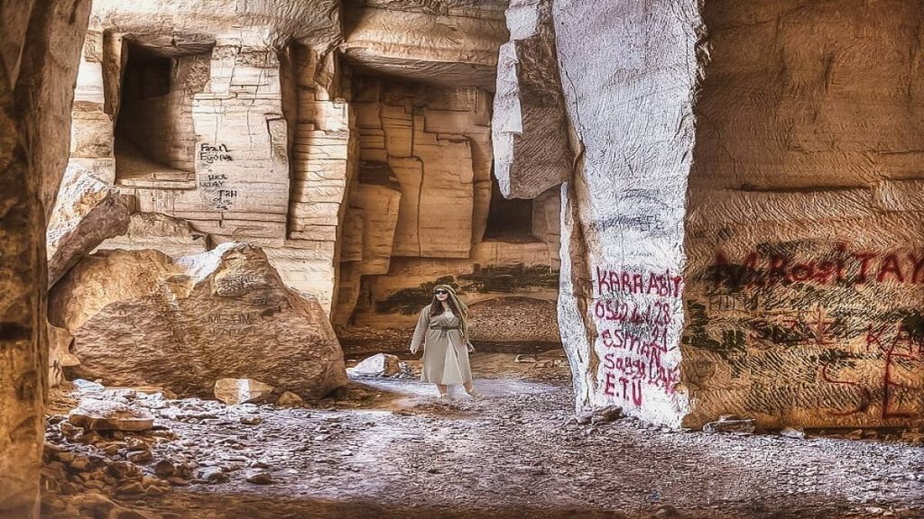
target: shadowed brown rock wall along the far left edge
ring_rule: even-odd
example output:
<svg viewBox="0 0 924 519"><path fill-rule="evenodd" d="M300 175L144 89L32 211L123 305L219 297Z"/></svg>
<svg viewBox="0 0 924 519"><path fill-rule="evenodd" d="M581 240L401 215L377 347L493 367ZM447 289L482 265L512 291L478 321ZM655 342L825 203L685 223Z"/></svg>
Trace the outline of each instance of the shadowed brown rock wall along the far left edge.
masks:
<svg viewBox="0 0 924 519"><path fill-rule="evenodd" d="M90 2L0 2L0 517L39 513L48 383L45 220L67 163Z"/></svg>

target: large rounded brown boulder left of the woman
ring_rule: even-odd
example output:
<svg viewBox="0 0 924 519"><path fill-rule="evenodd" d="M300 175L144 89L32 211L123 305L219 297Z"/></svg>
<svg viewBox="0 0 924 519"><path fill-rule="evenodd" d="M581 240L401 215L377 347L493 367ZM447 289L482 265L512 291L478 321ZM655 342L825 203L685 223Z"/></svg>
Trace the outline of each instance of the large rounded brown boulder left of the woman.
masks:
<svg viewBox="0 0 924 519"><path fill-rule="evenodd" d="M225 243L171 259L91 255L55 285L50 319L75 337L79 373L107 385L208 395L214 380L264 380L306 398L346 384L321 305L286 287L261 248Z"/></svg>

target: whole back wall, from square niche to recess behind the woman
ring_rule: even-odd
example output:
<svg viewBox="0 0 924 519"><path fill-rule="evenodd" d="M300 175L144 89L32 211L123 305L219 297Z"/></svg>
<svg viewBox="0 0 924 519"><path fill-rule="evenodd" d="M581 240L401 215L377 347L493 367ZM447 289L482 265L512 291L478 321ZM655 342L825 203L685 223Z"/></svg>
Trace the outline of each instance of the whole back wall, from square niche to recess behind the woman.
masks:
<svg viewBox="0 0 924 519"><path fill-rule="evenodd" d="M94 4L71 164L202 236L133 215L101 249L259 245L338 324L412 326L444 282L555 300L557 189L492 181L505 1L213 4Z"/></svg>

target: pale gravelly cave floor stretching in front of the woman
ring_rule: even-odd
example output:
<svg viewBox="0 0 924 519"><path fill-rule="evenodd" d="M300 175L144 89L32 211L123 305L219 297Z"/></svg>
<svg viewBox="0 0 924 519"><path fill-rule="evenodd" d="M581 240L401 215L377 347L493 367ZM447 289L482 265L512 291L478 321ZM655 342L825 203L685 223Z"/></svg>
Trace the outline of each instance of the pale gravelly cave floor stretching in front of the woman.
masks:
<svg viewBox="0 0 924 519"><path fill-rule="evenodd" d="M473 356L478 400L457 388L444 403L417 380L366 379L322 407L176 404L208 412L160 418L175 438L153 442L142 469L183 459L228 480L116 500L124 508L108 516L924 518L919 443L707 435L630 418L578 426L567 368L513 359ZM261 423L241 423L242 412ZM273 483L246 481L253 467ZM62 507L81 491L46 492L45 515L75 516Z"/></svg>

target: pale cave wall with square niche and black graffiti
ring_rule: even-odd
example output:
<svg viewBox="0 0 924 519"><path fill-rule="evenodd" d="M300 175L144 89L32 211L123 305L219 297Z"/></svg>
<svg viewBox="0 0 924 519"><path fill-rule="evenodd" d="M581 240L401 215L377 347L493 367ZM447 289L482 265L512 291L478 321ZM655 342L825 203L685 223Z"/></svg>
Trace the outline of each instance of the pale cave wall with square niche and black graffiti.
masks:
<svg viewBox="0 0 924 519"><path fill-rule="evenodd" d="M118 187L136 211L187 221L211 245L244 240L263 247L286 284L330 309L351 171L349 110L328 52L340 37L337 6L161 2L145 10L95 3L72 167ZM137 49L176 60L175 91L122 103L124 69ZM114 133L123 110L140 127L132 136L140 144L127 143L139 150L116 151L128 140ZM182 160L190 133L192 163ZM173 247L169 236L164 242Z"/></svg>

